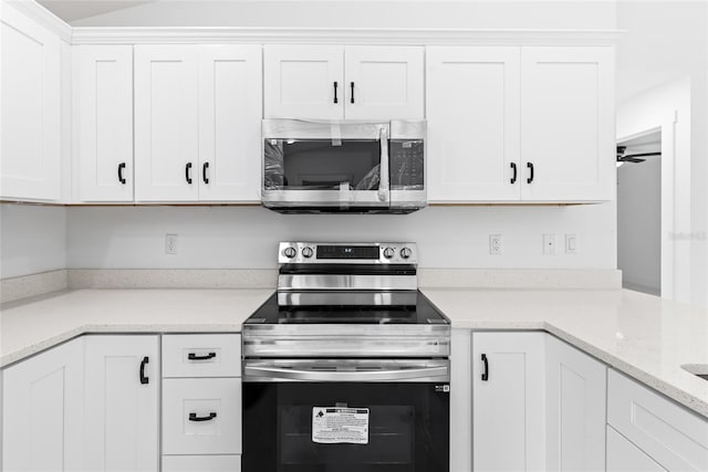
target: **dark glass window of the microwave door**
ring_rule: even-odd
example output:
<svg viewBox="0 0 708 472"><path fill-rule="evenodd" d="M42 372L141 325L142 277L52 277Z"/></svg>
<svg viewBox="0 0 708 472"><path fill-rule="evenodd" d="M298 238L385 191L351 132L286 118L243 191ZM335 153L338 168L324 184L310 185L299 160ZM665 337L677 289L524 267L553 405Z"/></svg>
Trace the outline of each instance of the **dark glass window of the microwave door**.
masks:
<svg viewBox="0 0 708 472"><path fill-rule="evenodd" d="M377 139L266 139L267 190L378 190Z"/></svg>

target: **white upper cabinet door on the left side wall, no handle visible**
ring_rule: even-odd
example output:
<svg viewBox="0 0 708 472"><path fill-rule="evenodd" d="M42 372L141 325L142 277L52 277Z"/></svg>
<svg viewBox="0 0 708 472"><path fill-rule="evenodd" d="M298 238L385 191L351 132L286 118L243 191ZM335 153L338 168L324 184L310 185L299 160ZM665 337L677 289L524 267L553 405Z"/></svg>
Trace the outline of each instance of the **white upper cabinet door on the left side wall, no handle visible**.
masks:
<svg viewBox="0 0 708 472"><path fill-rule="evenodd" d="M0 18L0 198L61 198L61 50L3 2Z"/></svg>

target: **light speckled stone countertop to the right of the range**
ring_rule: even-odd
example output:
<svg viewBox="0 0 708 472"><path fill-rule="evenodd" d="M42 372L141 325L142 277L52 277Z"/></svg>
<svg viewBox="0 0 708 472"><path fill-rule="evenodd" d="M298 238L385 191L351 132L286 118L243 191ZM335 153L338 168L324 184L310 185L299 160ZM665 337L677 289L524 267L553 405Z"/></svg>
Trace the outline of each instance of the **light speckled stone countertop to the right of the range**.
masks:
<svg viewBox="0 0 708 472"><path fill-rule="evenodd" d="M628 290L423 291L472 329L543 329L708 417L708 310Z"/></svg>

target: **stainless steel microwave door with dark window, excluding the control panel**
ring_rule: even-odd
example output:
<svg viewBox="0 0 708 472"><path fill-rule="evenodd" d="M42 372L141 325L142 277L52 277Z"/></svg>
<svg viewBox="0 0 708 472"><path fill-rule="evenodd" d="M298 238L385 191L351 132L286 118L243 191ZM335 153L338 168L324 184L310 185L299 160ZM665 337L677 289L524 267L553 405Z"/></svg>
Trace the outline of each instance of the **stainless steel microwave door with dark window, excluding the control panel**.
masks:
<svg viewBox="0 0 708 472"><path fill-rule="evenodd" d="M264 119L269 208L388 207L387 123Z"/></svg>

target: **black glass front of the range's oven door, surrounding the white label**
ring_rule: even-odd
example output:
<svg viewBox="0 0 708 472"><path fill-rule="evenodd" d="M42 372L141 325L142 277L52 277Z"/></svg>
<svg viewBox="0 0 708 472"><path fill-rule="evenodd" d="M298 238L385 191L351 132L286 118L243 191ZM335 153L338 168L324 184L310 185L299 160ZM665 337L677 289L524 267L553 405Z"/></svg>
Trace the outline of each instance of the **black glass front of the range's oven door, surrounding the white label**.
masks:
<svg viewBox="0 0 708 472"><path fill-rule="evenodd" d="M244 472L448 470L449 394L426 382L244 382ZM368 409L367 443L320 443L313 408Z"/></svg>

